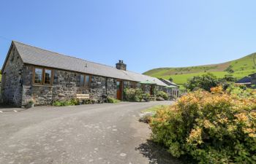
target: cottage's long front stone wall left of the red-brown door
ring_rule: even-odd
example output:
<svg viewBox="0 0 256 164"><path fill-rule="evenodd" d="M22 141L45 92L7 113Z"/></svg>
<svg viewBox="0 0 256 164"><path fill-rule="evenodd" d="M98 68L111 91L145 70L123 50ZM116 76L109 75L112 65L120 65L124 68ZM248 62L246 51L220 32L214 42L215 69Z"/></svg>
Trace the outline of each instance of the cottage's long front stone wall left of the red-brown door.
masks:
<svg viewBox="0 0 256 164"><path fill-rule="evenodd" d="M33 98L36 105L52 104L54 101L65 101L76 98L76 94L89 94L92 99L101 103L102 95L116 98L116 79L91 76L90 87L80 86L80 73L53 69L53 85L34 85L34 66L24 66L23 106ZM108 80L108 86L107 86Z"/></svg>

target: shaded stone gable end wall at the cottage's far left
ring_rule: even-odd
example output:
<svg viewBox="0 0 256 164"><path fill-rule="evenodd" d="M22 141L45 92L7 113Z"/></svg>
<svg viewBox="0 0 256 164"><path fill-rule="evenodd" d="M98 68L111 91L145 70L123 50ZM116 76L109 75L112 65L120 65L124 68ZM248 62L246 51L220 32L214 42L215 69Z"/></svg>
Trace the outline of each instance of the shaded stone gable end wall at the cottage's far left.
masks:
<svg viewBox="0 0 256 164"><path fill-rule="evenodd" d="M2 72L1 94L4 103L20 106L22 101L23 62L14 46L11 47L9 58Z"/></svg>

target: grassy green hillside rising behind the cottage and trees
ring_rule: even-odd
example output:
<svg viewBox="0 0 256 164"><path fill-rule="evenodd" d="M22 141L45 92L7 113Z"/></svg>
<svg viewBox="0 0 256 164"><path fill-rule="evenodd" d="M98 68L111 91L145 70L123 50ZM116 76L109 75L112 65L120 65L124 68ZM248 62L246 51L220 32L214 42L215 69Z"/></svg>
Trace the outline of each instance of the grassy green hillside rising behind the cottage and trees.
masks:
<svg viewBox="0 0 256 164"><path fill-rule="evenodd" d="M254 57L256 58L256 53L226 63L205 66L151 69L143 74L152 77L162 77L165 79L169 79L170 77L172 77L173 82L176 82L180 85L187 82L187 79L190 79L197 75L206 74L207 72L211 72L217 77L224 77L225 74L230 74L227 72L228 69L232 69L234 71L232 73L234 77L241 78L247 76L248 74L256 72L256 59L254 61Z"/></svg>

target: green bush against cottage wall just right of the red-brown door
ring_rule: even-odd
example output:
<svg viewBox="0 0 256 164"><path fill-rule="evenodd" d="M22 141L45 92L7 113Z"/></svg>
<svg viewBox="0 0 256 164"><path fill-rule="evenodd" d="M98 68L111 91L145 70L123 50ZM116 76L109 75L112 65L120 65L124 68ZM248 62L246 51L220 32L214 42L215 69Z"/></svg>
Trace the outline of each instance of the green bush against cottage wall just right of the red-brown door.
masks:
<svg viewBox="0 0 256 164"><path fill-rule="evenodd" d="M124 99L126 101L140 102L143 99L143 91L139 88L126 88L124 89Z"/></svg>

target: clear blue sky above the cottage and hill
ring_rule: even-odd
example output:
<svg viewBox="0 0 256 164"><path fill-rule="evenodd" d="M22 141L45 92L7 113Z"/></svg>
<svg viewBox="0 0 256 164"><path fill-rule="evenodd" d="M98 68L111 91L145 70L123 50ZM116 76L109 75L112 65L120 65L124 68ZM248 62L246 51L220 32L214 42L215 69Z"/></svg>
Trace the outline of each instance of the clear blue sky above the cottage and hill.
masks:
<svg viewBox="0 0 256 164"><path fill-rule="evenodd" d="M256 52L256 1L0 2L0 65L11 40L131 71L222 63Z"/></svg>

